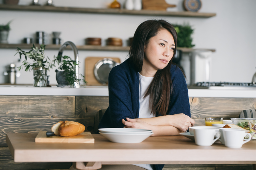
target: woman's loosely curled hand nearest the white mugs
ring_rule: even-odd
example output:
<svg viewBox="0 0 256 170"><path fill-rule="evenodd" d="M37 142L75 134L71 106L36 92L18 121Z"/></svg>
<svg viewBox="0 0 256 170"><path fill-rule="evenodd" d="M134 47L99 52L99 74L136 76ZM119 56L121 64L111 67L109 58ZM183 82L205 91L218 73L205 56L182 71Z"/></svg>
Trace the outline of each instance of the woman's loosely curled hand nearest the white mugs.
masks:
<svg viewBox="0 0 256 170"><path fill-rule="evenodd" d="M175 128L179 129L180 131L186 131L189 127L194 126L195 121L191 119L189 116L180 113L171 116L171 123L170 125L174 126Z"/></svg>

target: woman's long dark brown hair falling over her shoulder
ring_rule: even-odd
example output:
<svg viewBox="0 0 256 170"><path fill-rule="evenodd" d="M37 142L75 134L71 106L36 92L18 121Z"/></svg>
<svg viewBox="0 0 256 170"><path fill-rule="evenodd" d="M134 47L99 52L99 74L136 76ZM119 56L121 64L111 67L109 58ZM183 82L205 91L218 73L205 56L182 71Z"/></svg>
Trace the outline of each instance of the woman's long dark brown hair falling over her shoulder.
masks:
<svg viewBox="0 0 256 170"><path fill-rule="evenodd" d="M162 70L157 70L154 79L150 84L146 95L144 96L150 96L151 113L154 115L166 115L168 111L172 91L170 69L172 60L176 53L177 33L172 24L165 20L147 20L141 23L135 31L129 50L129 58L131 63L134 65L136 71L141 72L145 45L148 44L151 37L156 36L157 33L163 29L168 30L172 34L175 49L168 65Z"/></svg>

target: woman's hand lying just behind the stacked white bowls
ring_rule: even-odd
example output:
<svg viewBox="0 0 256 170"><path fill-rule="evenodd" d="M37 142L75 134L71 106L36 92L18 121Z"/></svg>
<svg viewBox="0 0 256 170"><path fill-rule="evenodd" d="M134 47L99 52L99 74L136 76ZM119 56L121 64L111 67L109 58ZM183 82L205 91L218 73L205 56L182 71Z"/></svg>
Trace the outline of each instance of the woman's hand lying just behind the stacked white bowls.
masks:
<svg viewBox="0 0 256 170"><path fill-rule="evenodd" d="M124 128L134 128L134 129L147 129L152 130L151 124L148 124L140 119L130 119L126 118L127 121L122 119L122 123L125 125Z"/></svg>

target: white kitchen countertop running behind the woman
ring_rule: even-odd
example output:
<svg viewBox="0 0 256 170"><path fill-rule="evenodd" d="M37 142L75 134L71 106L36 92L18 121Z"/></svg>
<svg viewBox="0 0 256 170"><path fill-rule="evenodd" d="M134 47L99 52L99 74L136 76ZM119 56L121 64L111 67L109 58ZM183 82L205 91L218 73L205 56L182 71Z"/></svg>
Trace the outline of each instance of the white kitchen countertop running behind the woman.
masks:
<svg viewBox="0 0 256 170"><path fill-rule="evenodd" d="M34 95L34 96L108 96L107 86L86 86L81 88L68 87L33 87L22 85L0 85L0 95ZM189 97L229 97L256 98L256 90L219 90L219 89L188 89Z"/></svg>

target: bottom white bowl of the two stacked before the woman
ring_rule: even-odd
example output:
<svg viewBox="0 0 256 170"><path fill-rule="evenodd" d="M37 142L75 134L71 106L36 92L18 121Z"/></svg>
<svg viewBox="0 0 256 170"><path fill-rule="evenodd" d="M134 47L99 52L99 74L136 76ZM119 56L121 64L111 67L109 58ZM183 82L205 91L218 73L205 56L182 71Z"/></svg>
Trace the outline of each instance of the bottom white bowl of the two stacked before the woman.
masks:
<svg viewBox="0 0 256 170"><path fill-rule="evenodd" d="M144 134L127 134L127 133L103 133L99 132L102 136L108 138L111 142L115 143L140 143L154 133Z"/></svg>

